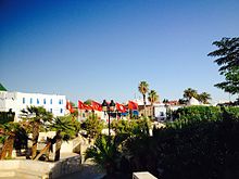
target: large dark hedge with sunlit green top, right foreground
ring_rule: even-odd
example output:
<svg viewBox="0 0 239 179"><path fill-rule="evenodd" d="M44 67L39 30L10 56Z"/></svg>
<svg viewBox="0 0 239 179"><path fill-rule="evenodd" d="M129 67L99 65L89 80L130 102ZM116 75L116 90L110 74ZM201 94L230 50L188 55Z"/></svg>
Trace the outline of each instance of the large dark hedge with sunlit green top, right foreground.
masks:
<svg viewBox="0 0 239 179"><path fill-rule="evenodd" d="M162 179L238 178L239 107L191 106L177 115L166 128L154 129L152 138L125 143L130 169Z"/></svg>

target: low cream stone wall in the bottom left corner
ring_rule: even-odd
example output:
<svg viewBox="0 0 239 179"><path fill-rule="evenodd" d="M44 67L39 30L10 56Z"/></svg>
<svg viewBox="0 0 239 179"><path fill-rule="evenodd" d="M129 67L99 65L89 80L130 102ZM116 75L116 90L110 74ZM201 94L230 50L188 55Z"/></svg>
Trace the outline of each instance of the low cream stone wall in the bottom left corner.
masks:
<svg viewBox="0 0 239 179"><path fill-rule="evenodd" d="M0 161L0 178L58 178L80 170L80 156L72 154L55 163L9 159Z"/></svg>

